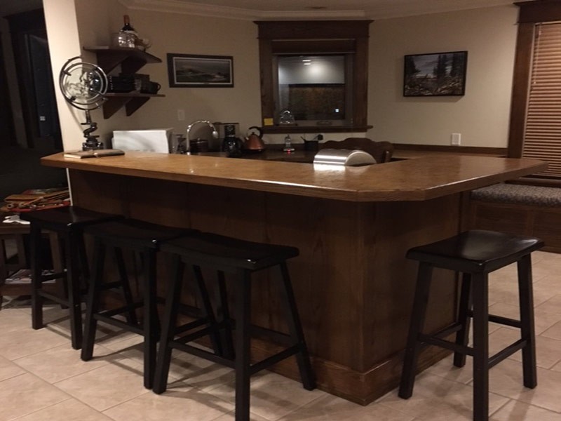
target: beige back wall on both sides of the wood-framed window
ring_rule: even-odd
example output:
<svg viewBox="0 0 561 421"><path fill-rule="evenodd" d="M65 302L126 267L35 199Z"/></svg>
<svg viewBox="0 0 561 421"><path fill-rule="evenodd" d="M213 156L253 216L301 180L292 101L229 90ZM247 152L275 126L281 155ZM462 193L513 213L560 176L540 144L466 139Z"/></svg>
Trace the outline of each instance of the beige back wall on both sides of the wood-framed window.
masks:
<svg viewBox="0 0 561 421"><path fill-rule="evenodd" d="M111 131L116 129L171 127L174 133L184 133L187 125L196 119L237 121L241 133L249 126L260 125L259 51L257 25L253 22L127 11L115 0L44 0L44 3L46 18L60 13L65 16L65 22L71 16L64 5L76 4L77 8L79 41L62 35L72 32L68 29L72 25L53 24L52 19L47 22L49 44L58 50L57 60L53 60L56 75L64 60L72 56L71 51L79 53L80 46L84 45L108 45L111 32L122 26L124 13L130 15L140 36L151 40L149 53L162 60L162 63L142 67L139 72L150 74L151 80L161 83L160 93L165 98L151 98L130 117L125 115L124 109L108 120L103 119L100 110L93 112L102 140L110 138ZM370 27L368 121L374 128L367 135L375 140L397 143L450 145L450 134L461 133L461 145L506 147L517 15L515 6L499 6L373 22ZM61 33L54 43L51 32ZM64 44L69 48L62 48ZM403 55L461 50L468 51L465 96L403 98ZM170 88L166 53L232 55L235 86ZM83 53L83 57L95 60L95 55L90 53ZM184 111L183 121L178 119L178 110ZM61 123L63 120L70 121L61 115ZM83 120L83 112L79 120ZM63 127L65 149L81 145L81 137L76 138L74 134L81 134L81 130L81 126L76 126L69 137ZM194 131L193 137L200 134L204 136ZM292 135L292 139L299 140L299 136ZM325 135L326 140L344 137L346 133ZM265 140L280 142L282 138L269 135Z"/></svg>

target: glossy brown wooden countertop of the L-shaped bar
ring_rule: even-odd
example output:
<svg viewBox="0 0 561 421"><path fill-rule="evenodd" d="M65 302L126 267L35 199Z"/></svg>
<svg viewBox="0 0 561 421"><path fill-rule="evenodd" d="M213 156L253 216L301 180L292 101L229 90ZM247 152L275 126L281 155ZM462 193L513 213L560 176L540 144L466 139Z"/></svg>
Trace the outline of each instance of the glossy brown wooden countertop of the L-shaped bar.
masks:
<svg viewBox="0 0 561 421"><path fill-rule="evenodd" d="M344 201L419 201L465 192L543 171L536 159L426 156L360 167L231 159L217 156L129 152L72 159L45 156L46 166L141 178L190 182Z"/></svg>

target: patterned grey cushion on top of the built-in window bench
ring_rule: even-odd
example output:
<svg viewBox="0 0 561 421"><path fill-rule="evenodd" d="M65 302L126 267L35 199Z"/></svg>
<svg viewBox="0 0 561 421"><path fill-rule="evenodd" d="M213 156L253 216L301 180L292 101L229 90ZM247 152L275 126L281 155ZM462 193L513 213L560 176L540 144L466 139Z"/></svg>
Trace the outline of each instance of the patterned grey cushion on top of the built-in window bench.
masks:
<svg viewBox="0 0 561 421"><path fill-rule="evenodd" d="M499 183L473 190L471 199L530 206L561 207L561 189Z"/></svg>

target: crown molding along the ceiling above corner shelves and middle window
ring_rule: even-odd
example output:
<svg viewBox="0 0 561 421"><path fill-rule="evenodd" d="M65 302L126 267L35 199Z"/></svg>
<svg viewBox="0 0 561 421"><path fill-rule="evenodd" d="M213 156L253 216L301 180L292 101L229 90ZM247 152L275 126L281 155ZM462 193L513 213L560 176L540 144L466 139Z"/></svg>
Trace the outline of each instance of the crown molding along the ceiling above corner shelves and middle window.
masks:
<svg viewBox="0 0 561 421"><path fill-rule="evenodd" d="M268 19L358 19L365 18L365 11L257 11L252 9L195 4L179 0L119 0L130 10L183 13L185 15L210 16L212 18L240 20Z"/></svg>

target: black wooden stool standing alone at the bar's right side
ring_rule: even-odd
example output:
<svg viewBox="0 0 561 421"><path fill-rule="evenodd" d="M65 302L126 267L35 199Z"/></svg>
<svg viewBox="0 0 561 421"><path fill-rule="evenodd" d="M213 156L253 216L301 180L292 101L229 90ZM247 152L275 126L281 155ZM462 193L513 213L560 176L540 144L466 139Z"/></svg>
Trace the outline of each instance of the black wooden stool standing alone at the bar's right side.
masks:
<svg viewBox="0 0 561 421"><path fill-rule="evenodd" d="M398 393L400 397L408 399L413 393L417 356L423 344L452 349L454 366L457 367L464 366L466 355L473 356L474 421L489 419L489 368L519 349L522 349L524 385L531 389L536 387L534 300L530 254L541 247L543 241L534 237L474 229L407 251L407 258L419 261L419 274ZM520 320L489 314L487 300L489 273L514 262L518 265ZM437 333L425 335L422 330L434 267L463 274L458 319L456 323ZM470 318L473 319L473 347L468 347ZM489 321L520 328L520 340L490 358ZM452 333L456 333L455 342L442 339Z"/></svg>

